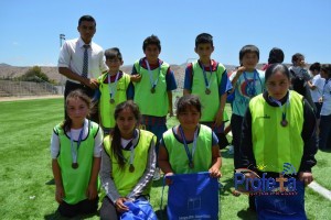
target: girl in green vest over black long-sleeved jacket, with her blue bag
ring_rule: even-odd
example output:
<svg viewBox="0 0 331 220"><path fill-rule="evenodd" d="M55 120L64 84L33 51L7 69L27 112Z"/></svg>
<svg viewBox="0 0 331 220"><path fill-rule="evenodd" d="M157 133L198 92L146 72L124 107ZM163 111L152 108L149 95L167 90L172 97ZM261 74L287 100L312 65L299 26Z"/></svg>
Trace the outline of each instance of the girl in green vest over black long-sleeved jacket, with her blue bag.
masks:
<svg viewBox="0 0 331 220"><path fill-rule="evenodd" d="M265 79L267 90L249 101L244 118L241 167L256 172L263 177L260 183L274 179L269 188L252 185L249 189L258 194L258 219L307 219L305 185L313 180L317 152L314 113L301 95L289 90L290 74L285 65L269 66ZM246 174L246 179L258 183L259 177L252 174Z"/></svg>

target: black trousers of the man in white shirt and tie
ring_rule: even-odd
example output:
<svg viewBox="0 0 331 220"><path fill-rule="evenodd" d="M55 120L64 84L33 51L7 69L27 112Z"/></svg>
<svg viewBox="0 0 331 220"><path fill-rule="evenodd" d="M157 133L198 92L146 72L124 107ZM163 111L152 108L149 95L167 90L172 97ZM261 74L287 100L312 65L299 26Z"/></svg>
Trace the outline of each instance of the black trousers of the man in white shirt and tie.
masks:
<svg viewBox="0 0 331 220"><path fill-rule="evenodd" d="M86 94L90 99L94 97L95 95L95 89L92 89L87 86L84 86L82 84L76 84L73 81L66 81L65 82L65 90L64 90L64 117L65 119L67 118L66 111L65 111L65 99L67 97L67 95L76 89L81 89L84 94ZM98 114L98 101L94 101L93 102L93 108L92 108L92 112L89 113L89 119L94 122L99 123L99 114Z"/></svg>

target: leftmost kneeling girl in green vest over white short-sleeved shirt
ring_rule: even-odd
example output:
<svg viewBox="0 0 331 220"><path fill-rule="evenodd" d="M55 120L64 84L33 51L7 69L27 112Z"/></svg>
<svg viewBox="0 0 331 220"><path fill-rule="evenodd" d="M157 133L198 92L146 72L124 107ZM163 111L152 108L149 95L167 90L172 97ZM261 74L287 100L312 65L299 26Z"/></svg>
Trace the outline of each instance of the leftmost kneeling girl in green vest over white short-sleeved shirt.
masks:
<svg viewBox="0 0 331 220"><path fill-rule="evenodd" d="M103 131L88 119L90 98L73 90L65 100L68 116L53 129L51 141L55 199L64 217L96 212L97 176L100 167Z"/></svg>

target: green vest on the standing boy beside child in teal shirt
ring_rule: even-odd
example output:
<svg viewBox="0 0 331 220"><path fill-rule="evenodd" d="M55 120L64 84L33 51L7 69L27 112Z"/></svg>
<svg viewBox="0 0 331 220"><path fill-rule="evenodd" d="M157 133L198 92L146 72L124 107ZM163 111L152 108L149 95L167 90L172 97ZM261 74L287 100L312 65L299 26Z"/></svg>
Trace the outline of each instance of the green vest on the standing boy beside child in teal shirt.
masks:
<svg viewBox="0 0 331 220"><path fill-rule="evenodd" d="M202 116L200 121L212 122L220 109L220 95L218 85L222 80L222 75L225 72L225 67L222 64L217 64L216 72L205 72L206 78L210 79L211 94L205 94L205 81L203 76L203 69L200 67L199 62L192 63L193 81L192 81L192 94L199 96L202 105ZM228 117L226 111L223 111L223 121L227 121Z"/></svg>

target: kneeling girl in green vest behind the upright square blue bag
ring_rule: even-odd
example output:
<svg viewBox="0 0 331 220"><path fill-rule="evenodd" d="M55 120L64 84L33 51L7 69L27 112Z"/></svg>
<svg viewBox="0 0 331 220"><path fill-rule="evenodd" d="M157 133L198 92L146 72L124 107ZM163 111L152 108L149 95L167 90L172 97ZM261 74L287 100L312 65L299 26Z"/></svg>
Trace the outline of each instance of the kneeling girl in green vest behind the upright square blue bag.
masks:
<svg viewBox="0 0 331 220"><path fill-rule="evenodd" d="M212 177L221 177L218 140L209 127L199 123L201 108L194 95L179 99L177 118L180 125L164 132L160 142L159 165L166 176L209 170Z"/></svg>

